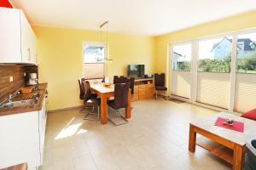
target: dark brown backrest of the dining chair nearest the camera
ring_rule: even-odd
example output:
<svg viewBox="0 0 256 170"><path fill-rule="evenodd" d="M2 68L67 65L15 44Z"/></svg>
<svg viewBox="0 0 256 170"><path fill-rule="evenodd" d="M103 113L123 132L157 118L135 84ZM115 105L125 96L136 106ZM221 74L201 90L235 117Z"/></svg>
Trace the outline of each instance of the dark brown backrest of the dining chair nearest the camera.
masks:
<svg viewBox="0 0 256 170"><path fill-rule="evenodd" d="M117 83L114 85L114 105L116 108L124 108L128 105L128 93L130 83Z"/></svg>

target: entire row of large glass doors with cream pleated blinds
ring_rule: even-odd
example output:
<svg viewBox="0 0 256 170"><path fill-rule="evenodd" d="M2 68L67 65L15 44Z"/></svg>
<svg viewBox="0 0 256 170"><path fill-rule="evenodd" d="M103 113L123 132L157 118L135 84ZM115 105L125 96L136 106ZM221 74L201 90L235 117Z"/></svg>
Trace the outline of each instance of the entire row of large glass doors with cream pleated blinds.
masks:
<svg viewBox="0 0 256 170"><path fill-rule="evenodd" d="M219 111L256 108L256 30L171 46L171 95Z"/></svg>

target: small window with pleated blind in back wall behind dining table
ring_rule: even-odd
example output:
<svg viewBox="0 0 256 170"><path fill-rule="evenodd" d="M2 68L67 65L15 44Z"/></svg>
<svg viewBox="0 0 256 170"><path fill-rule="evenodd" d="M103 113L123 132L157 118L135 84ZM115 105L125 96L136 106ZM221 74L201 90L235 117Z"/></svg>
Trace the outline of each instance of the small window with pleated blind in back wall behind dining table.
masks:
<svg viewBox="0 0 256 170"><path fill-rule="evenodd" d="M87 79L104 77L105 64L102 61L107 54L105 44L83 42L83 75Z"/></svg>

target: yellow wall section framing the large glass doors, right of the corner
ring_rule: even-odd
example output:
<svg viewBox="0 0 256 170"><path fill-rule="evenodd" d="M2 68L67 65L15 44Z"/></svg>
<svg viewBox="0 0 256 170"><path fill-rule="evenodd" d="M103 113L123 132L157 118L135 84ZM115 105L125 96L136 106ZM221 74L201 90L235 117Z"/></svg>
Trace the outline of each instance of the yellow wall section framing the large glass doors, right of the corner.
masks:
<svg viewBox="0 0 256 170"><path fill-rule="evenodd" d="M200 26L193 26L180 31L174 31L166 35L156 37L156 71L166 72L167 83L169 81L169 44L182 42L199 37L207 37L223 34L231 31L239 31L256 27L256 11L239 14L223 20L212 21Z"/></svg>

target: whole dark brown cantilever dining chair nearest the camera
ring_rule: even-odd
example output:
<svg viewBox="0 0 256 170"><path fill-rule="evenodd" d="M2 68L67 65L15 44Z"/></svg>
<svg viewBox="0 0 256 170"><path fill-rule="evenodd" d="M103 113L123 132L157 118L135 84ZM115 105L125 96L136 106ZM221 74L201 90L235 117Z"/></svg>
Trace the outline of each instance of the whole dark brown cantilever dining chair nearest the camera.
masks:
<svg viewBox="0 0 256 170"><path fill-rule="evenodd" d="M122 116L121 109L128 106L128 93L129 93L130 83L117 83L114 85L114 99L108 100L108 105L113 108L113 110L117 111L119 117L121 117L125 122L116 123L108 116L108 120L113 122L115 126L119 126L125 123L128 123L128 120L125 116Z"/></svg>

